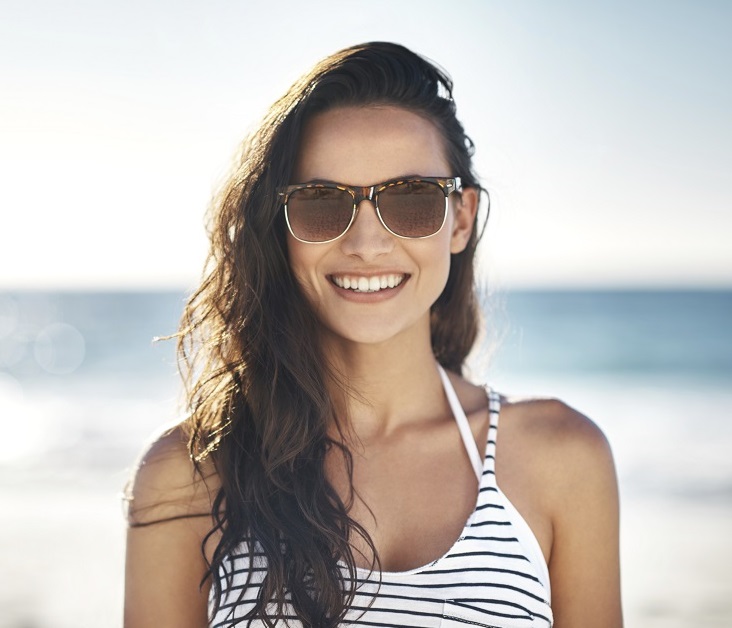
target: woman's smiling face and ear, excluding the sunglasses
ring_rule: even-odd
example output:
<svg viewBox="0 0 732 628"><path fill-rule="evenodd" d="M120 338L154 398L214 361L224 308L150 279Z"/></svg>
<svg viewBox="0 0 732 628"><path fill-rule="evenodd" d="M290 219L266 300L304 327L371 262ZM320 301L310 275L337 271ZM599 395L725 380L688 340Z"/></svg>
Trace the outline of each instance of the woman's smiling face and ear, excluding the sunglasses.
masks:
<svg viewBox="0 0 732 628"><path fill-rule="evenodd" d="M342 107L305 125L291 183L370 186L414 175L456 175L431 122L395 106ZM477 194L466 189L462 199L452 194L449 202L442 229L425 239L389 233L368 200L361 202L350 229L333 242L307 244L287 234L292 271L327 330L353 343L405 334L429 339L430 307L445 287L450 253L468 242ZM369 291L362 291L364 280ZM372 291L377 281L387 287ZM361 290L354 290L359 283Z"/></svg>

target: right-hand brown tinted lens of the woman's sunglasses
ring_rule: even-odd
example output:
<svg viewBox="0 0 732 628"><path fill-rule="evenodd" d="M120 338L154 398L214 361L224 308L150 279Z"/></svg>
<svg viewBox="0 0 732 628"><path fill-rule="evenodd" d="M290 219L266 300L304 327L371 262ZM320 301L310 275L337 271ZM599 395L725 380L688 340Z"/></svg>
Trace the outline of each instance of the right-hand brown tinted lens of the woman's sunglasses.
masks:
<svg viewBox="0 0 732 628"><path fill-rule="evenodd" d="M408 238L434 235L445 221L445 193L436 183L406 181L379 193L379 212L391 231Z"/></svg>

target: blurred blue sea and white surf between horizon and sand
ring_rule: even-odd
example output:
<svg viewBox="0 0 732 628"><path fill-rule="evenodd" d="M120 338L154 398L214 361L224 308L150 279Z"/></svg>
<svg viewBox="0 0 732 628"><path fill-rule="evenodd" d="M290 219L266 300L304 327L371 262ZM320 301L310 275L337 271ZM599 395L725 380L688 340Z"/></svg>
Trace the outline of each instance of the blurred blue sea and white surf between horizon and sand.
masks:
<svg viewBox="0 0 732 628"><path fill-rule="evenodd" d="M0 294L0 472L128 465L180 413L175 340L153 339L176 331L184 302ZM590 416L628 494L732 497L732 291L517 291L484 303L474 379Z"/></svg>

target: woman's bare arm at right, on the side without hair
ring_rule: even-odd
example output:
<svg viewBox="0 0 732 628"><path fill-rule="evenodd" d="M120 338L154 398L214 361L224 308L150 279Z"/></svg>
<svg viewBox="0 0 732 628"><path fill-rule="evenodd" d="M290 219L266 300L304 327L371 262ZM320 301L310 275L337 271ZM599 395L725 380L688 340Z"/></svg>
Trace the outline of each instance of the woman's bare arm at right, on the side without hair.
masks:
<svg viewBox="0 0 732 628"><path fill-rule="evenodd" d="M603 433L559 402L547 417L555 628L620 628L618 487Z"/></svg>

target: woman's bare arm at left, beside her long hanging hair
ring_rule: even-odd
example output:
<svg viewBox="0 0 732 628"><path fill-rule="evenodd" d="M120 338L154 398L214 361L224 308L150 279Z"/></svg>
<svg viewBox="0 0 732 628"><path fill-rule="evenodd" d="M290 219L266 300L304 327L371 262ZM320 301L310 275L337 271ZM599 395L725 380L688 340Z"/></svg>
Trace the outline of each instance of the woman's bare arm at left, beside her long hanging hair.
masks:
<svg viewBox="0 0 732 628"><path fill-rule="evenodd" d="M201 543L212 528L214 480L195 470L180 428L142 457L128 496L125 628L208 626Z"/></svg>

